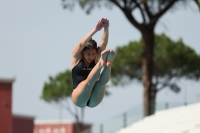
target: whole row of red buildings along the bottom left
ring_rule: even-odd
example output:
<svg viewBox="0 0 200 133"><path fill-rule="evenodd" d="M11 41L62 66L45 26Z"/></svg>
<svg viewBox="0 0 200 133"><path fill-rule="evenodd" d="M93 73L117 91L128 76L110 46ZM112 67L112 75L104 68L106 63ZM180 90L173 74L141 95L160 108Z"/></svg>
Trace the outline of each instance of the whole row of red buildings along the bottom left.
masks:
<svg viewBox="0 0 200 133"><path fill-rule="evenodd" d="M0 133L78 133L76 123L68 120L35 120L12 113L12 84L15 79L0 78ZM81 133L90 133L84 124Z"/></svg>

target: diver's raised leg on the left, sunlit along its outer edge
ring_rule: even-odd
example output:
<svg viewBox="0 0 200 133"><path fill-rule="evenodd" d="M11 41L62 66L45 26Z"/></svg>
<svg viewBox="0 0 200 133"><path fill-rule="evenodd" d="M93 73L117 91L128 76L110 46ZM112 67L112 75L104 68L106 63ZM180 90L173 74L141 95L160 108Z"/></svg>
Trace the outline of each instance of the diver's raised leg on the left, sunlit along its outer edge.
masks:
<svg viewBox="0 0 200 133"><path fill-rule="evenodd" d="M92 90L99 78L101 68L106 65L106 57L109 50L104 50L101 53L101 58L95 67L91 70L87 79L82 81L72 92L72 101L79 107L85 107L89 100Z"/></svg>

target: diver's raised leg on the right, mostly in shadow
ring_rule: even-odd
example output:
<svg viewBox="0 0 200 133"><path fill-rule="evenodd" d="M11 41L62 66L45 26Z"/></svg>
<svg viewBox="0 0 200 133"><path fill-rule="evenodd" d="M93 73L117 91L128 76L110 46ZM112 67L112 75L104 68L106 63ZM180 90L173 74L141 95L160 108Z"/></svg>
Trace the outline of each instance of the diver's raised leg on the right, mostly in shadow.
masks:
<svg viewBox="0 0 200 133"><path fill-rule="evenodd" d="M87 104L88 107L95 107L102 101L105 94L105 86L110 79L111 65L115 56L115 52L111 50L107 56L107 62L104 66L103 72L101 73L100 79L96 82L94 86L94 89Z"/></svg>

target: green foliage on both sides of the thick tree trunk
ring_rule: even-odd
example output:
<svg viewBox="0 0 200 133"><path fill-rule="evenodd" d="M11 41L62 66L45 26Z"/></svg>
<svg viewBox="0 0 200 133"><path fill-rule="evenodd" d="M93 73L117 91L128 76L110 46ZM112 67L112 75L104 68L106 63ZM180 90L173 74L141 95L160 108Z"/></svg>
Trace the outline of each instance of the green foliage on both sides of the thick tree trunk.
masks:
<svg viewBox="0 0 200 133"><path fill-rule="evenodd" d="M124 85L131 80L142 82L141 54L143 41L130 42L117 47L112 65L111 80L114 85ZM200 56L186 46L182 39L173 41L165 34L155 35L153 85L157 90L169 86L179 92L174 80L187 78L199 80ZM161 87L158 88L158 85Z"/></svg>

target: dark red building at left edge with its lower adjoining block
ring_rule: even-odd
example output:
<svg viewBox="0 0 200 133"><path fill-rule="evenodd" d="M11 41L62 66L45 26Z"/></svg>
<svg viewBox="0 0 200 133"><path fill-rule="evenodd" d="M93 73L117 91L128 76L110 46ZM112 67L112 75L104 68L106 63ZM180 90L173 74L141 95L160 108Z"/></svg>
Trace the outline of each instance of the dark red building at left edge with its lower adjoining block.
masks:
<svg viewBox="0 0 200 133"><path fill-rule="evenodd" d="M34 117L12 114L12 83L0 78L0 133L32 133Z"/></svg>

